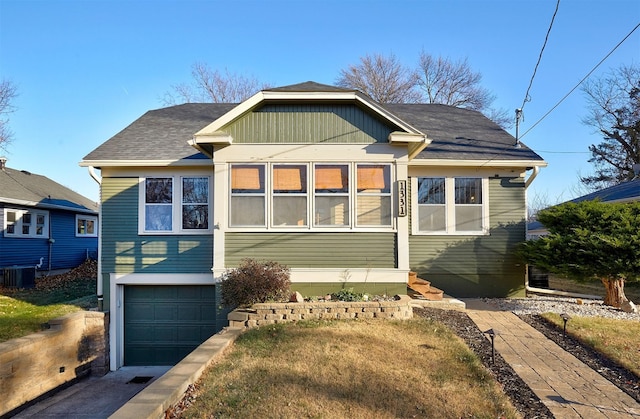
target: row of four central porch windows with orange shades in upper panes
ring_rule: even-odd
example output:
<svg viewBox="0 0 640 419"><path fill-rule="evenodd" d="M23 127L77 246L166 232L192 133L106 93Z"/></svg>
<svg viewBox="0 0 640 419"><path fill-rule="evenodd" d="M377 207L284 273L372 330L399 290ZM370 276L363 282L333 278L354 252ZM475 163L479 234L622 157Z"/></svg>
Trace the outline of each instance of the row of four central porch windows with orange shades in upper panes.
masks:
<svg viewBox="0 0 640 419"><path fill-rule="evenodd" d="M230 227L390 228L390 164L230 165Z"/></svg>

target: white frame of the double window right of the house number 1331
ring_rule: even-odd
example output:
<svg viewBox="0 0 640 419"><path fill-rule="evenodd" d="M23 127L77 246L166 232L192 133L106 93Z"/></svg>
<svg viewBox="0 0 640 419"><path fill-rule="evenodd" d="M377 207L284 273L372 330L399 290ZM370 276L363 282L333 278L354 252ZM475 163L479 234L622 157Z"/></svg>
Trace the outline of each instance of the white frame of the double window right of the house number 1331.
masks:
<svg viewBox="0 0 640 419"><path fill-rule="evenodd" d="M421 231L418 203L418 178L444 178L445 181L445 229L440 231ZM482 180L482 227L480 230L456 230L455 180L475 178ZM438 174L411 177L411 234L424 236L480 236L489 234L489 178L486 176L460 175L443 176ZM458 204L459 206L460 204Z"/></svg>

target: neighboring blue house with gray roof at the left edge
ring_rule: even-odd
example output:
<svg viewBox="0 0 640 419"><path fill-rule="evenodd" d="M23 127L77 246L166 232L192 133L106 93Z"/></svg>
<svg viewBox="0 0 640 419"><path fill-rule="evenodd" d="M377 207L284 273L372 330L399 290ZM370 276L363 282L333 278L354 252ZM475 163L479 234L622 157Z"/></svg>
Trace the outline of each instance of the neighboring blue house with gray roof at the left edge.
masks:
<svg viewBox="0 0 640 419"><path fill-rule="evenodd" d="M0 158L0 273L13 266L74 268L98 252L98 205Z"/></svg>

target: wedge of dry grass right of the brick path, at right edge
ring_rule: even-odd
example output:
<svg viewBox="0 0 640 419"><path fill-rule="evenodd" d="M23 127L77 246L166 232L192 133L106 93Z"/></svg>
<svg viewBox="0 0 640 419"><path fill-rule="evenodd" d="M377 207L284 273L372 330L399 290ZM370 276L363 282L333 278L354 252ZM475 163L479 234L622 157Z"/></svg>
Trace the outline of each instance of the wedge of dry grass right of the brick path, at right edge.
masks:
<svg viewBox="0 0 640 419"><path fill-rule="evenodd" d="M564 322L558 314L545 313L542 317L563 328ZM573 317L567 323L567 334L640 377L640 322Z"/></svg>

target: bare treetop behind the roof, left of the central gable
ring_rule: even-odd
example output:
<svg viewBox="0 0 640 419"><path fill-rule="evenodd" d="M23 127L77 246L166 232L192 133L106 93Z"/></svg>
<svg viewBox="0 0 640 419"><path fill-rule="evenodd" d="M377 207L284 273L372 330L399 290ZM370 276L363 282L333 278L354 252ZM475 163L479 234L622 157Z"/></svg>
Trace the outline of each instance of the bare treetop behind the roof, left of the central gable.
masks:
<svg viewBox="0 0 640 419"><path fill-rule="evenodd" d="M246 77L229 72L214 70L204 63L195 63L191 67L191 83L172 85L172 91L166 92L161 99L163 105L179 103L239 103L261 89L270 86L261 83L255 77Z"/></svg>

